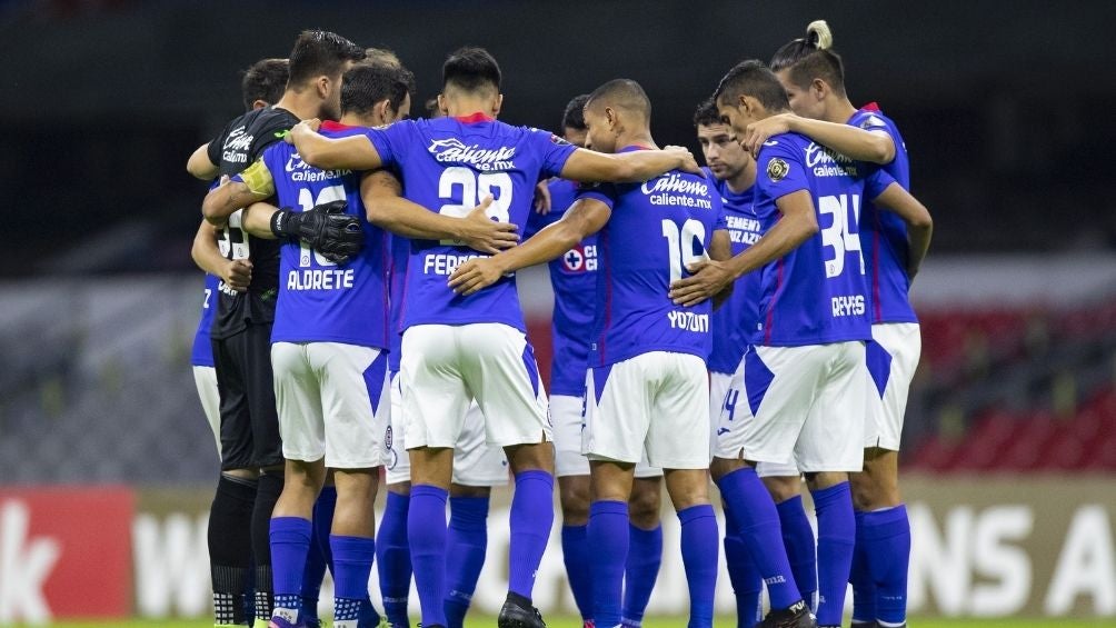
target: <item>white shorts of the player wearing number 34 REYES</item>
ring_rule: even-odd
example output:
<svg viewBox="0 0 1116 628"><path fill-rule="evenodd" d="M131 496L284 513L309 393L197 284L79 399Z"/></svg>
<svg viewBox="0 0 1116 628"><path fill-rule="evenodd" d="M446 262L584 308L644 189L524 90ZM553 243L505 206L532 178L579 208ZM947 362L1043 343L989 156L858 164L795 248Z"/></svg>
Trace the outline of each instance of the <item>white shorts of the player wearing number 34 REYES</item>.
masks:
<svg viewBox="0 0 1116 628"><path fill-rule="evenodd" d="M865 371L860 341L752 347L727 394L714 455L795 465L768 475L860 471Z"/></svg>

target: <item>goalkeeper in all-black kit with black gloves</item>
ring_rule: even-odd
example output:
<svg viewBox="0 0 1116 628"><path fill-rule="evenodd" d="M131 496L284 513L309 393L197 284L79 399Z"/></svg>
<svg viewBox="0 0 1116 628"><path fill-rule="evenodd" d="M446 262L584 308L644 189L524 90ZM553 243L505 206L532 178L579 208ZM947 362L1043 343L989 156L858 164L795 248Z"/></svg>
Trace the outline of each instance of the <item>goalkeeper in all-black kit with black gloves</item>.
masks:
<svg viewBox="0 0 1116 628"><path fill-rule="evenodd" d="M256 161L300 116L336 117L340 76L364 51L331 32L306 31L289 57L289 79L273 107L228 125L190 160L193 174L233 175ZM271 511L282 490L282 452L271 375L270 337L278 292L279 243L244 233L240 213L203 226L199 255L220 254L250 274L247 291L219 284L211 331L221 396L221 480L210 511L210 555L217 624L238 619L248 566L256 564L256 617L271 615ZM251 513L246 512L252 502ZM249 551L250 550L250 551Z"/></svg>

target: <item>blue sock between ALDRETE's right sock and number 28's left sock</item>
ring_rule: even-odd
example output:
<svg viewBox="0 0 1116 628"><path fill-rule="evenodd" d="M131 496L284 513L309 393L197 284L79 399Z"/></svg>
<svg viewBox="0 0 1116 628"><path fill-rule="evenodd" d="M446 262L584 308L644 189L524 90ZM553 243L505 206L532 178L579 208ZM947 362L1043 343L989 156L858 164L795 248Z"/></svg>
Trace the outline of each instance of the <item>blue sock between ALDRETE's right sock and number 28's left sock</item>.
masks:
<svg viewBox="0 0 1116 628"><path fill-rule="evenodd" d="M407 544L408 495L387 492L384 516L376 535L376 568L379 596L392 626L410 626L407 596L411 595L411 547Z"/></svg>

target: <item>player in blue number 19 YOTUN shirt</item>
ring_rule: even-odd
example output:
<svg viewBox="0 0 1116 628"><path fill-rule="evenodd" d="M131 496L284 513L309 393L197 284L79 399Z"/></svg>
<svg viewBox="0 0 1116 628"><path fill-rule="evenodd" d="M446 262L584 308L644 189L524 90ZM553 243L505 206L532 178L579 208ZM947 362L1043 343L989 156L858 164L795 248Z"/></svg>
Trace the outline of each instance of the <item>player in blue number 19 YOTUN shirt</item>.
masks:
<svg viewBox="0 0 1116 628"><path fill-rule="evenodd" d="M651 103L633 80L598 87L585 105L586 146L637 154L654 147ZM635 464L661 466L682 522L682 559L690 589L689 626L712 626L716 519L709 503L710 303L677 307L670 282L684 265L727 259L720 195L703 175L670 172L643 184L600 185L578 194L562 220L522 245L459 267L462 294L504 273L560 257L599 233L600 272L586 377L583 452L589 458L588 543L594 549L593 619L619 626L628 552L628 497ZM656 245L657 243L657 245Z"/></svg>

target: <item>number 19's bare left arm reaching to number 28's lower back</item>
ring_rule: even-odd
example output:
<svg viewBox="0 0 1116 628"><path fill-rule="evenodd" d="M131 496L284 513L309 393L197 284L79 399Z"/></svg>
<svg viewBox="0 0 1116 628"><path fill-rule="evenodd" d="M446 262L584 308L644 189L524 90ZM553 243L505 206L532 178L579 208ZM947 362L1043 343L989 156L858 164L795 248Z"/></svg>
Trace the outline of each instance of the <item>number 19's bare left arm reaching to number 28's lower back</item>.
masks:
<svg viewBox="0 0 1116 628"><path fill-rule="evenodd" d="M548 262L600 231L609 216L612 209L605 202L593 197L578 199L561 220L542 229L519 247L459 265L450 276L450 288L459 294L472 294L492 286L509 272Z"/></svg>

